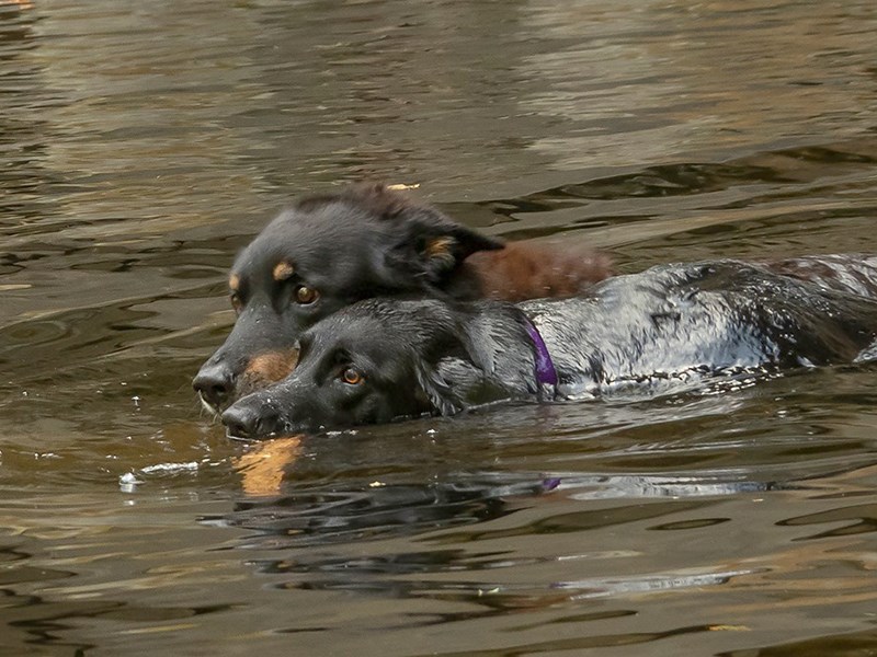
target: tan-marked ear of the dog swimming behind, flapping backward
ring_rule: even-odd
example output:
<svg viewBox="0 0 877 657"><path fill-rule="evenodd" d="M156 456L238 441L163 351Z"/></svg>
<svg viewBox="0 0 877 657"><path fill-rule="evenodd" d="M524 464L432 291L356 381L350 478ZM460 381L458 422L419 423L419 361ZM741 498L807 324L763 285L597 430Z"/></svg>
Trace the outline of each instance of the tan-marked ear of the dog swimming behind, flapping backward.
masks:
<svg viewBox="0 0 877 657"><path fill-rule="evenodd" d="M387 253L396 270L438 284L477 251L496 251L504 244L460 226L428 206L408 206L395 217L399 240Z"/></svg>

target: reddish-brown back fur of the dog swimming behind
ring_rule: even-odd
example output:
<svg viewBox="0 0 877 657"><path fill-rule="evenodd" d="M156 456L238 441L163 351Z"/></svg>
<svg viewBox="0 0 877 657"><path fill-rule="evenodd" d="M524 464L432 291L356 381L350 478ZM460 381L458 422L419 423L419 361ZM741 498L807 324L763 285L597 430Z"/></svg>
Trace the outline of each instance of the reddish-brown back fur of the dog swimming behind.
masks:
<svg viewBox="0 0 877 657"><path fill-rule="evenodd" d="M529 242L479 251L466 263L475 269L481 293L504 301L574 297L613 274L612 261L603 253Z"/></svg>

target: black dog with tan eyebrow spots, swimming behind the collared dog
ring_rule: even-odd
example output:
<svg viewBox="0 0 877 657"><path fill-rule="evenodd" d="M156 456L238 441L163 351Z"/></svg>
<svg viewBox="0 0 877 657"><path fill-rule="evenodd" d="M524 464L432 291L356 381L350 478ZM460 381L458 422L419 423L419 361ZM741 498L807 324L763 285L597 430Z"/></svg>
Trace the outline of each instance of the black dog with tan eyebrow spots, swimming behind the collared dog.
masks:
<svg viewBox="0 0 877 657"><path fill-rule="evenodd" d="M207 406L221 411L285 377L301 331L361 299L566 297L608 274L604 255L504 246L383 185L305 198L235 262L229 288L237 322L193 384Z"/></svg>

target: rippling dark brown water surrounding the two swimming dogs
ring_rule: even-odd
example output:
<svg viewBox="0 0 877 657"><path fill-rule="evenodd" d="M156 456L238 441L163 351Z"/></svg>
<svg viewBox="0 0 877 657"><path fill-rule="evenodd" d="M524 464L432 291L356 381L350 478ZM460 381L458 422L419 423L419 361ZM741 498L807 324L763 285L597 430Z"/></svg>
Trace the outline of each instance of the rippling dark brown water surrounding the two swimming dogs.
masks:
<svg viewBox="0 0 877 657"><path fill-rule="evenodd" d="M877 654L877 368L262 449L190 380L292 197L622 268L877 252L844 2L0 2L0 655Z"/></svg>

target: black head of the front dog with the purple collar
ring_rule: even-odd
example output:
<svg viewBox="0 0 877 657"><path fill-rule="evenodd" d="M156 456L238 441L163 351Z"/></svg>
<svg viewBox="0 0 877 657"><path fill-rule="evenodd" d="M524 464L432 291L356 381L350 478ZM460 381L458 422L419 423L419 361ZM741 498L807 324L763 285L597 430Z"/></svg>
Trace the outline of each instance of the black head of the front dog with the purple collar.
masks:
<svg viewBox="0 0 877 657"><path fill-rule="evenodd" d="M301 335L288 378L223 414L228 434L262 439L460 411L489 379L472 356L467 318L429 299L345 308Z"/></svg>

